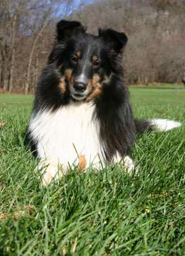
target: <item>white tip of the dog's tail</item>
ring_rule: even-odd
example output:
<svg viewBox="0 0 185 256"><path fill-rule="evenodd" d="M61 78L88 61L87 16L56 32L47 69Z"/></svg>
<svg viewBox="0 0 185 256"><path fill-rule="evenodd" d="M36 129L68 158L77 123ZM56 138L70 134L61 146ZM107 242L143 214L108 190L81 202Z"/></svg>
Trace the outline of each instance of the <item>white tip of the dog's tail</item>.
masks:
<svg viewBox="0 0 185 256"><path fill-rule="evenodd" d="M167 130L171 130L173 128L181 126L181 122L171 121L168 119L150 119L150 124L157 127L160 132L167 132Z"/></svg>

